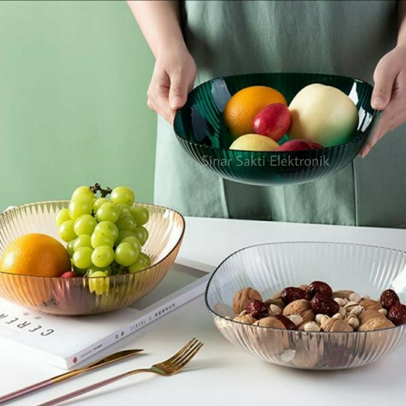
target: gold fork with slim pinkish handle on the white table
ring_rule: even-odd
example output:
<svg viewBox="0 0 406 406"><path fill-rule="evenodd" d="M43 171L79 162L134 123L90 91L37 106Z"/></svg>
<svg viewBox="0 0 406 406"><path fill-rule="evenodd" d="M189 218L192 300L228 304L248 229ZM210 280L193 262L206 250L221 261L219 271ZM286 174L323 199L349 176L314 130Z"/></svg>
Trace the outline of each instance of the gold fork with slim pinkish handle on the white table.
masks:
<svg viewBox="0 0 406 406"><path fill-rule="evenodd" d="M127 371L124 374L116 375L115 377L105 379L93 385L85 386L84 388L75 390L73 392L67 393L66 395L56 397L55 399L49 400L48 402L41 403L38 406L52 406L53 404L58 404L68 399L83 395L84 393L90 392L94 389L101 388L103 386L109 385L113 382L119 381L120 379L127 378L131 375L140 374L143 372L150 372L153 374L170 376L178 373L200 350L203 346L196 339L192 339L187 343L182 349L180 349L173 357L166 359L165 361L159 362L158 364L152 365L150 368L143 369L133 369Z"/></svg>

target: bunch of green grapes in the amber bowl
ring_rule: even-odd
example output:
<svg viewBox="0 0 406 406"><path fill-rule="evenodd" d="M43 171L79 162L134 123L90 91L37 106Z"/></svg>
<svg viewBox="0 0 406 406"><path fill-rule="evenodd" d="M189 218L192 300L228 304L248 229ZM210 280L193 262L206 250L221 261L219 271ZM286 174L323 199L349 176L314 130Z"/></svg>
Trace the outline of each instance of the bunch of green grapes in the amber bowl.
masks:
<svg viewBox="0 0 406 406"><path fill-rule="evenodd" d="M150 214L134 201L134 192L126 186L103 189L96 183L75 189L68 207L56 214L72 267L89 278L91 293L108 294L110 276L151 266L151 258L142 252Z"/></svg>

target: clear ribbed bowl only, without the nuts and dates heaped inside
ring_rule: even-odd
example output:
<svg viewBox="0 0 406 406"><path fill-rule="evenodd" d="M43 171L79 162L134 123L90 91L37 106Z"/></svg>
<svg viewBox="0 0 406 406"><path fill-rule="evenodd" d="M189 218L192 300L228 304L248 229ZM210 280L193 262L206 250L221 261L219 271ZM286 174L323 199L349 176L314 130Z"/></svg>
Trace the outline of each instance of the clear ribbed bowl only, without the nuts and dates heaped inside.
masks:
<svg viewBox="0 0 406 406"><path fill-rule="evenodd" d="M365 332L305 332L259 327L233 317L236 292L252 287L264 300L286 286L314 280L378 298L395 290L406 302L406 253L341 243L275 243L244 248L215 270L206 304L224 337L248 353L278 365L305 369L353 368L375 362L403 344L406 325Z"/></svg>

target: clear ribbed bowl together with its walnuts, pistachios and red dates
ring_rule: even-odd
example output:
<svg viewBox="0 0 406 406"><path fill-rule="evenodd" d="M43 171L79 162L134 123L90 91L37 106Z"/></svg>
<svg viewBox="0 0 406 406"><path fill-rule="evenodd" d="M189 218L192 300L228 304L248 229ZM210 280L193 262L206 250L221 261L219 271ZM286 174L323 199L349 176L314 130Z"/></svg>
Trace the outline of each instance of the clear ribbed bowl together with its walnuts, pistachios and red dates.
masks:
<svg viewBox="0 0 406 406"><path fill-rule="evenodd" d="M406 253L383 247L263 244L217 267L206 304L224 337L262 360L352 368L405 341L405 266Z"/></svg>

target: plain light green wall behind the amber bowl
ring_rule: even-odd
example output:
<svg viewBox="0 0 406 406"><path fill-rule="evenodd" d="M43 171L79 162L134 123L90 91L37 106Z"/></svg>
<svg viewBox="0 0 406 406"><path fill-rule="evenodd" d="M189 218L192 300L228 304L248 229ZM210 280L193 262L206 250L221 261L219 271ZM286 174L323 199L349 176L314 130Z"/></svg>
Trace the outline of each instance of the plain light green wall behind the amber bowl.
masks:
<svg viewBox="0 0 406 406"><path fill-rule="evenodd" d="M153 56L121 1L0 2L0 209L82 184L152 201Z"/></svg>

